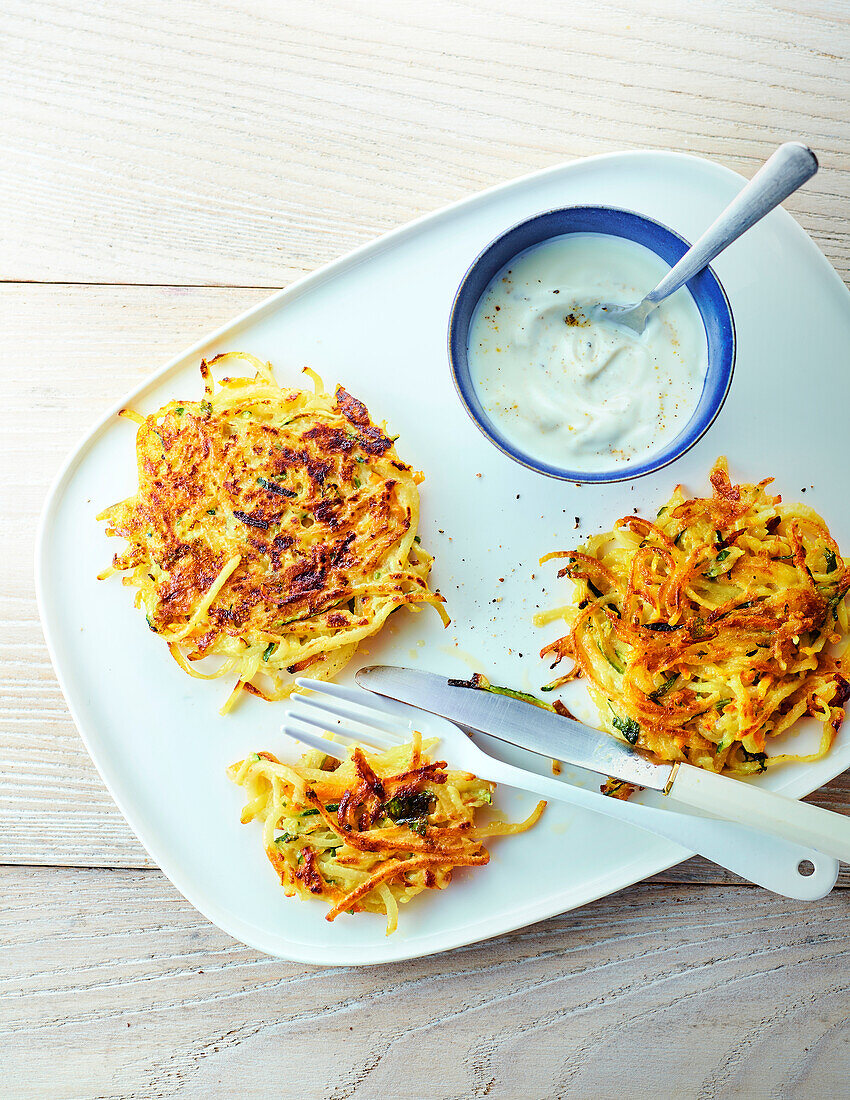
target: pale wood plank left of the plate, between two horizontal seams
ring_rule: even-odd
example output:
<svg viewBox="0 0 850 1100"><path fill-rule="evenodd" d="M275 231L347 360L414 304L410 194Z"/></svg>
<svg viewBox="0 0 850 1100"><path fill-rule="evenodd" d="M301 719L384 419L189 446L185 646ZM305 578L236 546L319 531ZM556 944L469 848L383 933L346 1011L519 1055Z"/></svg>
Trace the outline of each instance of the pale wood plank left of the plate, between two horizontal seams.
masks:
<svg viewBox="0 0 850 1100"><path fill-rule="evenodd" d="M47 487L70 448L135 382L263 290L0 287L9 410L0 514L0 861L151 866L79 739L38 623L32 561Z"/></svg>

